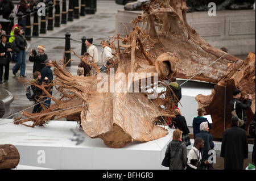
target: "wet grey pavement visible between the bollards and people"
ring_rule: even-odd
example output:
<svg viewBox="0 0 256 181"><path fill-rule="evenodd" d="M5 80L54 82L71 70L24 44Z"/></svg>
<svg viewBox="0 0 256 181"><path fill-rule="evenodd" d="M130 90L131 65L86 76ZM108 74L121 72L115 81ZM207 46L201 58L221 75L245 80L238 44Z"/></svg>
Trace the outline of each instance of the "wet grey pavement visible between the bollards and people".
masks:
<svg viewBox="0 0 256 181"><path fill-rule="evenodd" d="M73 19L73 22L68 22L67 24L61 24L61 27L54 27L53 31L47 31L46 34L40 34L39 36L44 37L65 37L65 33L71 33L71 49L77 54L81 54L81 38L85 36L86 38L93 37L93 44L100 45L101 40L109 39L115 35L115 16L117 15L117 10L123 10L122 5L117 5L115 1L97 1L97 11L96 14L86 14L86 16L80 16L79 19ZM31 21L32 22L32 21ZM77 40L77 41L76 41ZM32 78L32 66L33 63L28 61L30 54L30 49L38 47L38 45L43 45L46 47L46 54L51 60L62 60L64 52L64 39L48 39L48 38L34 38L32 37L28 41L29 47L26 53L26 76L28 79ZM99 56L101 54L102 48L98 46ZM79 58L71 54L71 59L73 60L71 66L68 67L72 74L76 75L77 67L80 62ZM29 101L26 96L26 87L19 80L19 77L14 77L12 68L15 63L10 63L10 74L9 81L0 85L0 88L6 89L11 92L14 96L14 101L10 104L10 108L14 113L14 116L19 117L20 112L26 110L27 112L32 112L32 107L34 106L33 101ZM17 75L19 75L19 72ZM53 89L53 92L55 90ZM245 159L244 168L251 163L251 152L249 153L249 158ZM217 151L217 161L214 164L214 169L222 170L224 169L224 159L220 158L220 151Z"/></svg>

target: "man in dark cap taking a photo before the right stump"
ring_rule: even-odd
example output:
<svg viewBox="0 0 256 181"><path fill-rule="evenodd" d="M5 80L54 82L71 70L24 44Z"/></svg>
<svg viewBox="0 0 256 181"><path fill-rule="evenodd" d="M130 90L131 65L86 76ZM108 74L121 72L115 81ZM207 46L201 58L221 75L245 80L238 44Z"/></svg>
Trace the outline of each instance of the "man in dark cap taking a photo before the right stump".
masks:
<svg viewBox="0 0 256 181"><path fill-rule="evenodd" d="M247 94L245 99L242 100L242 102L240 101L240 98L241 98L241 90L234 90L233 99L230 101L229 105L230 105L231 111L233 111L234 104L236 102L236 113L237 113L237 116L244 121L241 128L245 129L245 125L247 123L247 116L246 116L245 110L249 110L251 107L251 95Z"/></svg>

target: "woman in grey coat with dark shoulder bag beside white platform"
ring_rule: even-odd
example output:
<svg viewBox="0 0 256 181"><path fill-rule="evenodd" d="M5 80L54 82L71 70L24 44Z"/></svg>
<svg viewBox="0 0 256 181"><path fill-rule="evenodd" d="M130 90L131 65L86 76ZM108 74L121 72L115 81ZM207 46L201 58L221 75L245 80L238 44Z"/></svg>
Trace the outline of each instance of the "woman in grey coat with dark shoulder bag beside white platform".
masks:
<svg viewBox="0 0 256 181"><path fill-rule="evenodd" d="M184 170L187 165L187 147L181 137L182 131L176 129L172 134L172 141L167 146L165 154L171 154L170 170Z"/></svg>

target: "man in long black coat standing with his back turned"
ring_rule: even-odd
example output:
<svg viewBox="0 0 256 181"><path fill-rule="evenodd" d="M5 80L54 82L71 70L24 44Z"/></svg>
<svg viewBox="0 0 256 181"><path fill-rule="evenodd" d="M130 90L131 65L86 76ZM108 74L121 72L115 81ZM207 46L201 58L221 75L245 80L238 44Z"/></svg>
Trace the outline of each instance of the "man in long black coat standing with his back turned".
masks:
<svg viewBox="0 0 256 181"><path fill-rule="evenodd" d="M244 129L239 128L238 118L232 117L232 127L226 129L221 143L225 170L242 170L243 159L248 158L248 141Z"/></svg>

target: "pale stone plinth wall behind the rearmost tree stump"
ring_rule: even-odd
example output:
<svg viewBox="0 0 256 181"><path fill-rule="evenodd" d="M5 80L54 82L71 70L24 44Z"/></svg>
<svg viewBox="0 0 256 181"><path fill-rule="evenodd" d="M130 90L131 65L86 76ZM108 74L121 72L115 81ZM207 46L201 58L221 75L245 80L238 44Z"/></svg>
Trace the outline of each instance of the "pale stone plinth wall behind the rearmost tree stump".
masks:
<svg viewBox="0 0 256 181"><path fill-rule="evenodd" d="M115 31L125 36L122 23L129 32L132 31L134 24L130 24L131 20L142 12L118 10ZM225 46L235 56L255 53L255 10L216 11L216 16L209 16L208 11L192 12L187 13L187 22L213 47Z"/></svg>

